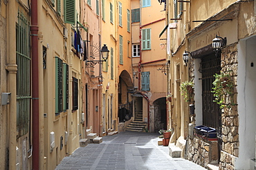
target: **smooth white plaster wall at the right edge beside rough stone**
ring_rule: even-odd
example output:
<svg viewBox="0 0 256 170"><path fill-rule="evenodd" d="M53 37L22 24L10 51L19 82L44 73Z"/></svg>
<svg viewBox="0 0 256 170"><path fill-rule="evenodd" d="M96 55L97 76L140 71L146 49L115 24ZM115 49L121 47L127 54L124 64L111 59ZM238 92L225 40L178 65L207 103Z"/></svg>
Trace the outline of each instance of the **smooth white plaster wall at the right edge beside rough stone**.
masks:
<svg viewBox="0 0 256 170"><path fill-rule="evenodd" d="M255 45L256 36L243 39L238 44L239 158L235 163L236 169L250 169L250 158L255 158Z"/></svg>

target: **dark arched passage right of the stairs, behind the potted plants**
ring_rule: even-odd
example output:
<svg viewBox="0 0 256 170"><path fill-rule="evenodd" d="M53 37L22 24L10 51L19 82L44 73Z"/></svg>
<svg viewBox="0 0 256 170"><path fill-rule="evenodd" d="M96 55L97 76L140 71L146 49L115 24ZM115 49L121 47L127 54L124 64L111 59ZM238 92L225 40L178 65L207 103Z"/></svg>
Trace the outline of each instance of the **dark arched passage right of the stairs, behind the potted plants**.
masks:
<svg viewBox="0 0 256 170"><path fill-rule="evenodd" d="M167 129L166 98L154 100L154 131Z"/></svg>

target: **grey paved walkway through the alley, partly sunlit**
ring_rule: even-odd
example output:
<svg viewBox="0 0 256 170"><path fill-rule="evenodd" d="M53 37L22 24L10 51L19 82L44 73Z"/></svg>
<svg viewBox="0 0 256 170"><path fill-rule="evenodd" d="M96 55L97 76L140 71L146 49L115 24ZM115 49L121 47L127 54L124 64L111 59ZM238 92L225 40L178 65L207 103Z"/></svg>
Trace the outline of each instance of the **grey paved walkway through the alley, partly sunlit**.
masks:
<svg viewBox="0 0 256 170"><path fill-rule="evenodd" d="M168 147L158 146L158 134L120 132L104 136L100 144L80 147L56 169L204 169L182 158L171 158Z"/></svg>

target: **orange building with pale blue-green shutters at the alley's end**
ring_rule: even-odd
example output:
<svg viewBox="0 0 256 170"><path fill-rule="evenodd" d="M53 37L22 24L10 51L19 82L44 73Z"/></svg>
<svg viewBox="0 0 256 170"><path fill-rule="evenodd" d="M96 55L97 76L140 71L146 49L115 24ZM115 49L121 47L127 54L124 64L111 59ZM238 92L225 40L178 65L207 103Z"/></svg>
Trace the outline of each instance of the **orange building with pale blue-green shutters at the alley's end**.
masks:
<svg viewBox="0 0 256 170"><path fill-rule="evenodd" d="M163 5L157 1L131 1L134 120L147 123L149 132L167 129L166 41L157 34L164 26Z"/></svg>

